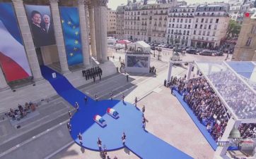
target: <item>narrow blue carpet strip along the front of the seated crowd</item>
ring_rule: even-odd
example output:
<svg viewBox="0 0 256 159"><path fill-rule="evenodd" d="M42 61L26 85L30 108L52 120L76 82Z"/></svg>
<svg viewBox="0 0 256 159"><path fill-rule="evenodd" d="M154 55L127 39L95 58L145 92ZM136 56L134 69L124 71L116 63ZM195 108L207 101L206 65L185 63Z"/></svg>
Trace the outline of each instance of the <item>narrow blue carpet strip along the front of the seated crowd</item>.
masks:
<svg viewBox="0 0 256 159"><path fill-rule="evenodd" d="M197 119L197 116L194 115L193 111L190 109L190 106L187 105L185 101L183 101L182 96L178 93L178 91L173 90L173 94L178 98L183 108L187 111L188 115L190 115L191 119L193 120L194 124L197 125L200 132L204 135L205 139L208 141L208 143L211 145L211 148L216 151L217 144L214 141L214 139L211 137L211 134L207 132L207 129L202 123Z"/></svg>

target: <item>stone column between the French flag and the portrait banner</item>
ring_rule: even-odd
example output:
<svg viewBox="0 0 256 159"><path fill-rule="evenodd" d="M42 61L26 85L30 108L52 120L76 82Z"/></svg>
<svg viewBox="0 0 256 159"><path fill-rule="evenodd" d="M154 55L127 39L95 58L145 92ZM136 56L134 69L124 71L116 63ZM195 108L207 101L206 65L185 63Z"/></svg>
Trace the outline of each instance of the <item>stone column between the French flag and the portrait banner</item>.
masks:
<svg viewBox="0 0 256 159"><path fill-rule="evenodd" d="M42 73L40 70L40 66L37 60L37 53L35 51L35 45L33 42L32 34L30 31L30 27L28 25L28 18L25 15L25 8L23 6L22 0L13 0L14 10L17 15L18 24L21 29L21 36L23 38L25 51L28 56L28 63L30 64L30 68L33 74L33 80L35 82L42 80Z"/></svg>

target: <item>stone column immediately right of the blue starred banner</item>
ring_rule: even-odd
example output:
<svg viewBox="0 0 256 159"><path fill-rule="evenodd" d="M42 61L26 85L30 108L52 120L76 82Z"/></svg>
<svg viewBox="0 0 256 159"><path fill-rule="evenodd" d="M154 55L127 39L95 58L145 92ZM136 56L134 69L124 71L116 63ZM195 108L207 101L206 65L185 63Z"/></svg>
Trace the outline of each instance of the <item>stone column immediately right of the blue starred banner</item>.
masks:
<svg viewBox="0 0 256 159"><path fill-rule="evenodd" d="M81 28L81 39L82 39L82 51L83 51L83 66L85 68L90 67L90 47L89 47L89 36L88 36L88 18L87 11L88 6L84 5L84 0L78 0L78 11Z"/></svg>

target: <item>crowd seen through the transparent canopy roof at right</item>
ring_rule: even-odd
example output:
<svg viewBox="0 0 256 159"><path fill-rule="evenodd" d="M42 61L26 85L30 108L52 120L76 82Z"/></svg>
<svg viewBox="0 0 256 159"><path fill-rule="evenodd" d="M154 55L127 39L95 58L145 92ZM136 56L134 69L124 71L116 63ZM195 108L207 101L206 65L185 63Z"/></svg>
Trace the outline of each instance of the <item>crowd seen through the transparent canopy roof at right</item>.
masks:
<svg viewBox="0 0 256 159"><path fill-rule="evenodd" d="M256 94L233 72L226 70L208 76L214 87L240 119L256 117Z"/></svg>

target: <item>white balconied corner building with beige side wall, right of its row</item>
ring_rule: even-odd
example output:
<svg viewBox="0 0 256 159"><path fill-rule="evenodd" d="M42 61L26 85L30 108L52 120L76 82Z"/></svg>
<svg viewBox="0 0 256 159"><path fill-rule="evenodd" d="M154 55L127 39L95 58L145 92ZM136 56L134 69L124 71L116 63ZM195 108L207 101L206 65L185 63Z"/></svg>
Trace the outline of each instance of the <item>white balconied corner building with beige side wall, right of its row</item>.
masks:
<svg viewBox="0 0 256 159"><path fill-rule="evenodd" d="M229 5L199 5L194 13L191 46L213 49L226 37Z"/></svg>

